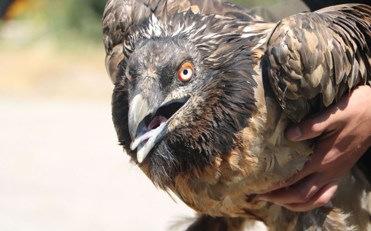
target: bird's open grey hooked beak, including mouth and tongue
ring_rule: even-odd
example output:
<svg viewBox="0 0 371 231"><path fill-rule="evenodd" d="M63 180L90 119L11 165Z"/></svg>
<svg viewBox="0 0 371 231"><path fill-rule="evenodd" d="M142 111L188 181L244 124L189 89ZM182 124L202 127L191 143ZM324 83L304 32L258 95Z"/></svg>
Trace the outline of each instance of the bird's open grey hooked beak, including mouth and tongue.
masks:
<svg viewBox="0 0 371 231"><path fill-rule="evenodd" d="M137 159L142 163L148 153L160 139L160 132L164 130L168 121L179 111L188 98L175 99L162 103L155 109L154 115L147 100L141 94L136 95L129 105L129 133L131 136L130 149L137 149Z"/></svg>

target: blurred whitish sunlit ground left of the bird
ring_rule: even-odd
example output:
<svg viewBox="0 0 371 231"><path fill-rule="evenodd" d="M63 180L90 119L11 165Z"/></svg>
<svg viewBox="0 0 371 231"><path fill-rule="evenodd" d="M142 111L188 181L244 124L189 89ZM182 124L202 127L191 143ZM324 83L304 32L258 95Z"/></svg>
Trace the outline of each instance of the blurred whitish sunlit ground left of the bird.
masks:
<svg viewBox="0 0 371 231"><path fill-rule="evenodd" d="M193 215L128 163L109 104L2 97L0 107L2 231L167 230Z"/></svg>

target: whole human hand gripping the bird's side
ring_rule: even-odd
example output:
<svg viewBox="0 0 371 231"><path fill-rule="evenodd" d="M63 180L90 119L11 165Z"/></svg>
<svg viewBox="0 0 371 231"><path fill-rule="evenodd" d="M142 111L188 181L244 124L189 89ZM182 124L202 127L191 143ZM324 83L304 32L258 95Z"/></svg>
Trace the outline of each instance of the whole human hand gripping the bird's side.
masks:
<svg viewBox="0 0 371 231"><path fill-rule="evenodd" d="M338 103L286 130L293 141L317 137L311 160L292 178L260 194L292 211L326 205L342 178L371 145L371 88L357 86ZM288 189L285 188L290 186Z"/></svg>

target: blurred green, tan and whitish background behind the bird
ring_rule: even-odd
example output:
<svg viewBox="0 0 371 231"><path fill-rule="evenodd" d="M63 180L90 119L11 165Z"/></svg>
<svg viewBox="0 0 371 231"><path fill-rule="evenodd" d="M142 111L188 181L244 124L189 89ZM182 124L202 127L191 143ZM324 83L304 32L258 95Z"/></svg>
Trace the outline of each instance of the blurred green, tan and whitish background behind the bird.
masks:
<svg viewBox="0 0 371 231"><path fill-rule="evenodd" d="M1 231L162 231L194 216L117 145L105 4L0 0Z"/></svg>

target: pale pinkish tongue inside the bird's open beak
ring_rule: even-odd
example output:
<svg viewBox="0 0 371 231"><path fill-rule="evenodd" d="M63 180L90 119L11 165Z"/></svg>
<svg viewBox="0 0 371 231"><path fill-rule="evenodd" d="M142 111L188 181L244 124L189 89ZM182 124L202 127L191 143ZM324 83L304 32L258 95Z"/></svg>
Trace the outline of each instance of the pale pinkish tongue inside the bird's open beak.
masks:
<svg viewBox="0 0 371 231"><path fill-rule="evenodd" d="M162 126L165 124L167 119L164 116L156 116L148 125L148 127L143 126L142 131L139 132L137 137L135 137L135 140L131 142L130 149L134 150L138 147L139 149L142 149L142 147L145 146L147 143L147 140L150 139L152 136L155 135L158 129L161 129Z"/></svg>

